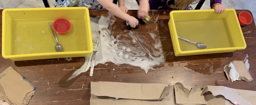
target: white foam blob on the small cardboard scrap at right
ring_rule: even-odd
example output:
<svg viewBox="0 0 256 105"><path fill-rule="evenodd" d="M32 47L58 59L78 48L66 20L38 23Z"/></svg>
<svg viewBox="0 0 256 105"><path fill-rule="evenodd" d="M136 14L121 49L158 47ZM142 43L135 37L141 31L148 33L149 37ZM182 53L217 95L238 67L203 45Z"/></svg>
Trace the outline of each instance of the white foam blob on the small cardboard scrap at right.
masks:
<svg viewBox="0 0 256 105"><path fill-rule="evenodd" d="M228 64L229 67L229 77L231 79L231 82L239 80L239 74L237 73L236 68L234 67L233 63Z"/></svg>

